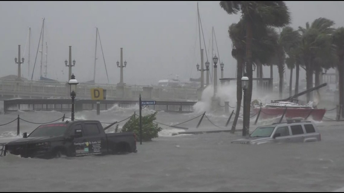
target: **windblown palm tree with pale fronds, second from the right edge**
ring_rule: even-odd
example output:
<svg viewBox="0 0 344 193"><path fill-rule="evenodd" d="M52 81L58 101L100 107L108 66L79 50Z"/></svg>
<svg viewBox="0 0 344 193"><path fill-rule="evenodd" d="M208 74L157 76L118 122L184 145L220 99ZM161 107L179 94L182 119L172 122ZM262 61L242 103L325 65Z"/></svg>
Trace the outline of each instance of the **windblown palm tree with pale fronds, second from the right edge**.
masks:
<svg viewBox="0 0 344 193"><path fill-rule="evenodd" d="M318 18L311 24L306 23L306 28L299 27L302 33L300 50L306 69L307 89L313 87L313 72L315 70L315 58L324 47L329 44L329 39L334 31L334 21L326 18ZM311 100L311 93L307 93L307 102Z"/></svg>

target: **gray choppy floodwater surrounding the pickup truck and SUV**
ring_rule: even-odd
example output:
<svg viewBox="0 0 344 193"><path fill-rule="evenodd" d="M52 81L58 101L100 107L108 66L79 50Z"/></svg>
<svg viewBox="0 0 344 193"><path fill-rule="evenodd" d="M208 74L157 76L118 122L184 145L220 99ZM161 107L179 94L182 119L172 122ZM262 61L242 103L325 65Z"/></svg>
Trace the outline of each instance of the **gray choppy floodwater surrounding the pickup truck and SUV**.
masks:
<svg viewBox="0 0 344 193"><path fill-rule="evenodd" d="M123 120L135 111L138 114L138 108L115 106L102 111L100 116L89 111L78 112L75 118L112 122ZM152 111L144 110L143 115L148 113ZM39 123L63 116L59 112L2 114L0 124L14 120L18 114L24 120ZM198 115L159 112L156 121L170 125ZM70 114L66 116L70 117ZM207 117L225 129L228 115L209 113ZM180 126L188 130L219 129L206 117L201 127L196 129L199 119ZM120 123L120 127L123 124ZM184 130L162 126L164 130L158 138L142 145L138 143L138 152L127 155L51 160L8 155L0 157L0 191L334 191L344 186L344 122L323 121L317 124L322 141L312 143L231 144L231 140L241 137L240 132L172 136ZM37 126L21 120L20 134ZM114 127L108 132L113 132ZM17 121L0 126L0 143L21 137L16 136L16 129Z"/></svg>

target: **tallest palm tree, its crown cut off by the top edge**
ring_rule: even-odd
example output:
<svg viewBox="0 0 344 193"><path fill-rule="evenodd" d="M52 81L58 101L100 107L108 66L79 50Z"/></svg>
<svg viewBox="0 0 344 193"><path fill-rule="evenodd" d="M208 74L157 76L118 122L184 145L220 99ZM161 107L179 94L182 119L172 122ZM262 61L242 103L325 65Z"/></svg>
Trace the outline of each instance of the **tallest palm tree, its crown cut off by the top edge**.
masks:
<svg viewBox="0 0 344 193"><path fill-rule="evenodd" d="M246 97L247 128L249 129L250 101L252 98L252 41L254 26L283 27L291 20L290 12L284 1L220 1L220 6L228 14L242 14L242 20L246 25L246 74L249 78ZM246 135L248 133L244 133Z"/></svg>

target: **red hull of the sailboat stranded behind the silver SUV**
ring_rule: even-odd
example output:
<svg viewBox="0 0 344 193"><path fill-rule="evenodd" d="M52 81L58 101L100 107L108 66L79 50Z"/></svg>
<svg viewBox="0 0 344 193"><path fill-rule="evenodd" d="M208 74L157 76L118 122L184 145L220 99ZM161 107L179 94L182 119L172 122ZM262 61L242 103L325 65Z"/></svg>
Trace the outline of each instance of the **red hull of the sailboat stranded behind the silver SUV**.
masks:
<svg viewBox="0 0 344 193"><path fill-rule="evenodd" d="M260 108L252 109L253 113L256 114L259 112ZM275 118L283 115L285 108L280 107L267 107L261 108L259 119L269 119ZM312 118L314 121L322 121L326 113L325 109L308 109L308 108L287 108L284 118Z"/></svg>

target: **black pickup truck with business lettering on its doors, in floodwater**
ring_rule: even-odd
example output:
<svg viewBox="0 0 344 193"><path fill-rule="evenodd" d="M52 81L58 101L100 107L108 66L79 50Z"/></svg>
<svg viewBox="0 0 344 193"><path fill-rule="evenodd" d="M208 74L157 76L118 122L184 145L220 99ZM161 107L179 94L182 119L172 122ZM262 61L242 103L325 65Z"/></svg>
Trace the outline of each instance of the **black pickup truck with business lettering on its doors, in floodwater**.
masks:
<svg viewBox="0 0 344 193"><path fill-rule="evenodd" d="M43 124L30 135L24 133L23 138L5 144L3 154L50 159L137 152L134 133L106 134L108 127L103 128L99 121L84 120Z"/></svg>

